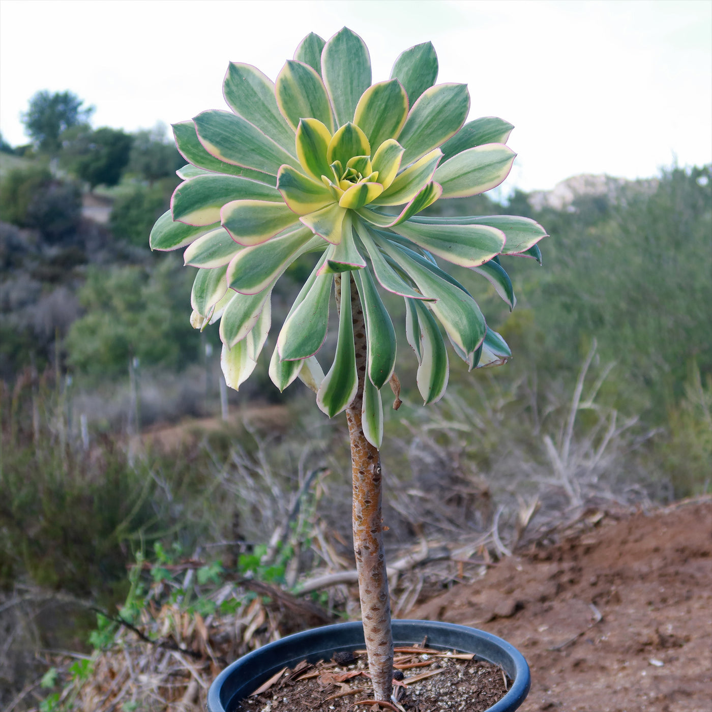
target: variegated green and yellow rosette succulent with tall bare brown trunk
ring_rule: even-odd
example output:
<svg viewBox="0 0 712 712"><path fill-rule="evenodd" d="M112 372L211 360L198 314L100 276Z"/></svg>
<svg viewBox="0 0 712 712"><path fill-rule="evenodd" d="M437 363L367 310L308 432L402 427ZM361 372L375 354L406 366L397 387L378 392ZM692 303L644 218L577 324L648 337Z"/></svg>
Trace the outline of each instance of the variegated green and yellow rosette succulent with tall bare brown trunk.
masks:
<svg viewBox="0 0 712 712"><path fill-rule="evenodd" d="M278 279L318 253L276 338L269 375L280 390L300 378L329 417L346 412L353 476L353 538L374 696L392 695L393 641L382 525L381 392L394 375L396 333L382 290L404 299L407 341L424 403L445 392L452 350L469 369L511 352L468 290L438 261L469 268L513 308L501 256L540 261L544 229L524 217L420 216L439 199L470 197L506 178L513 128L466 122L465 84L436 84L431 43L404 51L388 80L372 84L362 39L343 28L304 38L273 83L233 62L229 110L174 125L187 165L151 247L185 248L198 268L195 328L219 321L221 365L237 389L251 375L271 328ZM318 360L330 305L339 315L326 373Z"/></svg>

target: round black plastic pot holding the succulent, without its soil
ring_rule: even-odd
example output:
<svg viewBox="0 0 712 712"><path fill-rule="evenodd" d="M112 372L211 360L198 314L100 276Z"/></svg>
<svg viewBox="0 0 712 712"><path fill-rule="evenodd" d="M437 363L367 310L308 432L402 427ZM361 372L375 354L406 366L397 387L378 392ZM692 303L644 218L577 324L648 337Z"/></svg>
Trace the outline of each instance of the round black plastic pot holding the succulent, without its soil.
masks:
<svg viewBox="0 0 712 712"><path fill-rule="evenodd" d="M501 666L512 686L488 712L513 712L523 703L530 685L529 666L508 642L489 633L454 623L394 620L396 645L412 645L427 636L427 645L444 650L474 653L478 659ZM360 622L313 628L269 643L241 657L216 677L208 693L208 712L233 712L237 703L255 691L283 667L329 660L335 652L365 645Z"/></svg>

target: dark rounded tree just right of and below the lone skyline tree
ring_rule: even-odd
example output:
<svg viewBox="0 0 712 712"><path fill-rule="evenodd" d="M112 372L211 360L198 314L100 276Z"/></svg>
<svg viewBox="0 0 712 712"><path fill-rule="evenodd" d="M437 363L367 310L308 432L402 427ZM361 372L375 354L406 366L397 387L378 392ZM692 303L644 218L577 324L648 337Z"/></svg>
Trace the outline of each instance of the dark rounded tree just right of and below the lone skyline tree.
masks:
<svg viewBox="0 0 712 712"><path fill-rule="evenodd" d="M133 137L120 129L75 126L62 135L61 163L93 190L116 185L129 162Z"/></svg>

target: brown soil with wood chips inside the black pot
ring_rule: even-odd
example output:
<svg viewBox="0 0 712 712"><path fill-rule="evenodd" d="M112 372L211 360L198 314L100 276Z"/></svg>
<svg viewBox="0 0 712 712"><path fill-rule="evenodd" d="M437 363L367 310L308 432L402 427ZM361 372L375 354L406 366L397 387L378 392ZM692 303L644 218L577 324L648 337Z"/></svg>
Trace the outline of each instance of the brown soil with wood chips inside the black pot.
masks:
<svg viewBox="0 0 712 712"><path fill-rule="evenodd" d="M477 661L473 654L447 654L417 648L396 648L396 712L484 712L501 699L511 684L504 671ZM330 662L283 669L235 712L346 712L374 708L366 651L340 653ZM369 702L369 700L371 700Z"/></svg>

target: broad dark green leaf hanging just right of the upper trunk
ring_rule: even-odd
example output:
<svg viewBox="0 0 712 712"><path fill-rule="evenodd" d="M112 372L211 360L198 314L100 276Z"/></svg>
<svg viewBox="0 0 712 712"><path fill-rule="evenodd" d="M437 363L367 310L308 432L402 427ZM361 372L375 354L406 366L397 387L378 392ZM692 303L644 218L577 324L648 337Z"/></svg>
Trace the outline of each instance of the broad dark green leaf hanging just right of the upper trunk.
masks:
<svg viewBox="0 0 712 712"><path fill-rule="evenodd" d="M381 389L396 365L396 333L370 271L354 273L366 321L367 375Z"/></svg>

